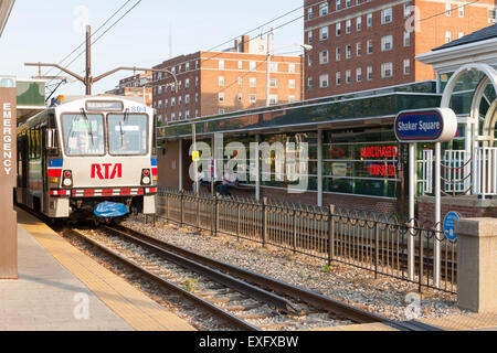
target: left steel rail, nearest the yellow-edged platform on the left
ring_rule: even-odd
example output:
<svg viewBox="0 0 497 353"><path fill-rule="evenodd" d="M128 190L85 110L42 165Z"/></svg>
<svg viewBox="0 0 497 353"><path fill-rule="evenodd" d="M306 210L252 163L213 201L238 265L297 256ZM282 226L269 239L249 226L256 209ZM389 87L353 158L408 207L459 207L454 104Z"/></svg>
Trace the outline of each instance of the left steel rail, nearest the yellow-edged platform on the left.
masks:
<svg viewBox="0 0 497 353"><path fill-rule="evenodd" d="M139 265L128 260L127 258L125 258L124 256L113 252L112 249L103 246L102 244L99 244L98 242L95 242L94 239L88 238L87 236L81 234L77 231L74 229L64 229L62 231L63 234L71 234L71 235L75 235L78 238L83 239L84 242L91 244L92 246L95 246L96 248L98 248L99 250L102 250L103 253L105 253L106 255L109 255L110 257L113 257L114 259L116 259L117 261L126 265L127 267L131 268L133 270L144 275L145 277L149 278L150 280L157 282L160 286L166 287L167 289L179 293L180 296L187 297L188 299L192 300L193 302L198 303L201 306L201 308L209 310L210 312L216 314L218 317L229 321L230 323L234 324L235 327L237 327L241 330L245 330L245 331L261 331L261 329L258 329L257 327L246 322L245 320L242 320L237 317L235 317L234 314L232 314L231 312L209 302L208 300L200 298L195 295L193 295L192 292L175 285L171 281L168 281L165 278L161 278L150 271L148 271L147 269L140 267Z"/></svg>

